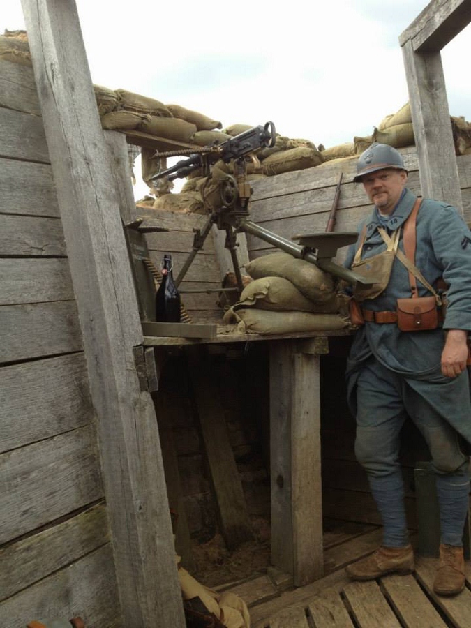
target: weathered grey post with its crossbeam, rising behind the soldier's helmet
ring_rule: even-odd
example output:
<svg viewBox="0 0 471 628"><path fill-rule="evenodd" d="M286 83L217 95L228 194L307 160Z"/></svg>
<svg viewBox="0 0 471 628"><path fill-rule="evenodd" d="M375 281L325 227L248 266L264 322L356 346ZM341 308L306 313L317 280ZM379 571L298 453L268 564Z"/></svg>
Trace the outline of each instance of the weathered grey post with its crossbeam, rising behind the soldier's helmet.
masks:
<svg viewBox="0 0 471 628"><path fill-rule="evenodd" d="M471 21L470 0L433 0L399 38L403 47L422 195L463 214L440 50Z"/></svg>

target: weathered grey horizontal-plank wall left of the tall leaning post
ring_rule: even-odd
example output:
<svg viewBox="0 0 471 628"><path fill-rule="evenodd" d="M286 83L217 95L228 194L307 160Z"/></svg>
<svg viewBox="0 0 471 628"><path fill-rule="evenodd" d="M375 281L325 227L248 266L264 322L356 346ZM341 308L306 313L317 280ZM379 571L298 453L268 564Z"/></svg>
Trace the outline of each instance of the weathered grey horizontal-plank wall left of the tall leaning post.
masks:
<svg viewBox="0 0 471 628"><path fill-rule="evenodd" d="M0 61L0 625L121 625L77 307L29 66Z"/></svg>

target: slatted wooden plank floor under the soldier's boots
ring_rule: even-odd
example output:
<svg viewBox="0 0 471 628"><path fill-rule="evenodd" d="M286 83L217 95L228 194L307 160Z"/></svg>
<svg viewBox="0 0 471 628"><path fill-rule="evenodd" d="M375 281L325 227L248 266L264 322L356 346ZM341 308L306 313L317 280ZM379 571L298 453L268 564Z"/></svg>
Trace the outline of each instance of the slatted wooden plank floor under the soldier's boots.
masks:
<svg viewBox="0 0 471 628"><path fill-rule="evenodd" d="M246 600L252 628L469 628L471 563L466 588L456 597L433 593L438 560L417 556L414 574L353 582L344 567L380 544L381 529L340 525L325 535L326 576L294 588L289 578L259 576L231 588ZM350 532L350 534L349 534ZM414 543L414 537L412 537ZM269 571L270 574L270 571Z"/></svg>

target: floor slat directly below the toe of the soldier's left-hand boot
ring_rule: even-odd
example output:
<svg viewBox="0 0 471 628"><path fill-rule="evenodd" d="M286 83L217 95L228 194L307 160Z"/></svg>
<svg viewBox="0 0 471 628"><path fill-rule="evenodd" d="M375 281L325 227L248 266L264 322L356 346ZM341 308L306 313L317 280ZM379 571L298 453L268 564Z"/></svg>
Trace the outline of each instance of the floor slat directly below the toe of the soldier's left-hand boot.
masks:
<svg viewBox="0 0 471 628"><path fill-rule="evenodd" d="M401 628L375 581L352 582L343 589L345 601L361 628Z"/></svg>

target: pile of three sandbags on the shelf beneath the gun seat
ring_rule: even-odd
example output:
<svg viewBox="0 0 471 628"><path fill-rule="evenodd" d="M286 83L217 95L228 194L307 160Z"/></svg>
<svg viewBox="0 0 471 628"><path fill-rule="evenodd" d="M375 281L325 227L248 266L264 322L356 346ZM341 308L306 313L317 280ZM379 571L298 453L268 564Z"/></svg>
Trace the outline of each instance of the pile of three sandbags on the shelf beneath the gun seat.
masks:
<svg viewBox="0 0 471 628"><path fill-rule="evenodd" d="M343 329L347 299L322 269L278 252L245 265L253 278L224 316L241 334L289 334Z"/></svg>

